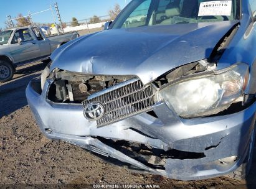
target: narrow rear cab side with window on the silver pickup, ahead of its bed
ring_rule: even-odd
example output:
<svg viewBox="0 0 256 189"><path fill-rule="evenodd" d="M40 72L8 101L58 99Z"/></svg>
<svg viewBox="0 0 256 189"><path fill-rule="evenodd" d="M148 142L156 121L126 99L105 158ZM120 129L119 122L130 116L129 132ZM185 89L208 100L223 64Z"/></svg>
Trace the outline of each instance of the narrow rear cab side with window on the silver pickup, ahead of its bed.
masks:
<svg viewBox="0 0 256 189"><path fill-rule="evenodd" d="M37 43L40 49L40 57L50 55L51 50L49 40L41 34L40 30L37 27L32 27L32 31L37 38Z"/></svg>

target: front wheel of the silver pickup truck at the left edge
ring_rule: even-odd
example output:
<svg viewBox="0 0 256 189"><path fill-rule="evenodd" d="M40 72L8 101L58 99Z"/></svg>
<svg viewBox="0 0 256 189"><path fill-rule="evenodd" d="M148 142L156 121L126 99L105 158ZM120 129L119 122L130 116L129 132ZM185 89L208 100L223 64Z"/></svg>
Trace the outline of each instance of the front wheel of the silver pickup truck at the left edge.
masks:
<svg viewBox="0 0 256 189"><path fill-rule="evenodd" d="M14 68L10 62L0 60L0 83L4 83L12 79Z"/></svg>

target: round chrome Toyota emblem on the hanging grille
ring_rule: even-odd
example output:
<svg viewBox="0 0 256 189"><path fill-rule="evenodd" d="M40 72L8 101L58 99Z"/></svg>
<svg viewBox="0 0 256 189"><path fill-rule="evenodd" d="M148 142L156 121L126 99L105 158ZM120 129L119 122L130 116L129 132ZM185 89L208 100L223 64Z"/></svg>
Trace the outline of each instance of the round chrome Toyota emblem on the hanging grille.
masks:
<svg viewBox="0 0 256 189"><path fill-rule="evenodd" d="M85 118L90 121L96 121L102 118L103 114L104 108L100 103L90 103L85 106L85 110L83 111Z"/></svg>

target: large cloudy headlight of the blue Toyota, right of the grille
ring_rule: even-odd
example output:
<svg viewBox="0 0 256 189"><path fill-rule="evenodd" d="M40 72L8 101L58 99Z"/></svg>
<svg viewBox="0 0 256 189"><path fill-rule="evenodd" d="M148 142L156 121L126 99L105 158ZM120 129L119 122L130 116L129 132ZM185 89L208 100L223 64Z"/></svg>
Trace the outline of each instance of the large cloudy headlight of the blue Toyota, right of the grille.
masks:
<svg viewBox="0 0 256 189"><path fill-rule="evenodd" d="M159 97L183 118L207 116L223 111L239 98L248 78L248 65L237 63L225 70L166 86L159 91Z"/></svg>

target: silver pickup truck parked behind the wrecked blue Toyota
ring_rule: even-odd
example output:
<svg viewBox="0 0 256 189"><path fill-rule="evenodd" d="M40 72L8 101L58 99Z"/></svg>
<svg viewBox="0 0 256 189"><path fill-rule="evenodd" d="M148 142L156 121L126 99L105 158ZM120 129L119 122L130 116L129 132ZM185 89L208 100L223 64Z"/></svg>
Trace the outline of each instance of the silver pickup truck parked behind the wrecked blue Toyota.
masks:
<svg viewBox="0 0 256 189"><path fill-rule="evenodd" d="M77 37L77 32L45 37L36 25L0 32L0 82L11 80L17 65L49 60L56 48Z"/></svg>

